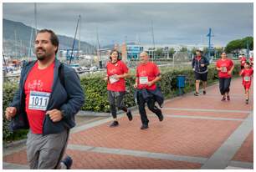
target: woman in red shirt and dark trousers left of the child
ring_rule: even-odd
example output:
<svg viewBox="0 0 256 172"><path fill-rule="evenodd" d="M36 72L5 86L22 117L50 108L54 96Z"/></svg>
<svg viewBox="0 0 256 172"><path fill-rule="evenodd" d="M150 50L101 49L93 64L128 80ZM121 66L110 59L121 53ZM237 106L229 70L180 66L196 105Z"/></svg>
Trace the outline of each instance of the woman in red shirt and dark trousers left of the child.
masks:
<svg viewBox="0 0 256 172"><path fill-rule="evenodd" d="M218 78L219 78L219 90L220 93L223 95L222 101L225 101L226 99L229 101L229 86L231 82L232 77L232 71L233 71L234 65L233 61L229 58L227 58L226 53L222 53L221 59L218 59L216 63L216 69L218 70Z"/></svg>

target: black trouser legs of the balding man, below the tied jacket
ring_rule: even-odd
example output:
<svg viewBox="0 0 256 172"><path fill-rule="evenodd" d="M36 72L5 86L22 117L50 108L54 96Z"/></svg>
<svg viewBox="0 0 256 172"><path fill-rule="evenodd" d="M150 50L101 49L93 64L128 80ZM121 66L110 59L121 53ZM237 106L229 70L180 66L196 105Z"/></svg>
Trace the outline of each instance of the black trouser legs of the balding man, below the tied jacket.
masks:
<svg viewBox="0 0 256 172"><path fill-rule="evenodd" d="M146 116L146 109L145 109L145 103L146 103L146 100L143 99L143 96L140 92L138 92L137 94L137 100L138 100L138 105L139 105L139 112L141 114L141 122L142 124L148 124L149 120L147 119L147 116ZM150 109L153 113L156 114L156 116L161 116L161 109L158 109L156 106L155 106L155 102L156 100L152 98L150 98L148 101L147 101L147 107L148 109Z"/></svg>

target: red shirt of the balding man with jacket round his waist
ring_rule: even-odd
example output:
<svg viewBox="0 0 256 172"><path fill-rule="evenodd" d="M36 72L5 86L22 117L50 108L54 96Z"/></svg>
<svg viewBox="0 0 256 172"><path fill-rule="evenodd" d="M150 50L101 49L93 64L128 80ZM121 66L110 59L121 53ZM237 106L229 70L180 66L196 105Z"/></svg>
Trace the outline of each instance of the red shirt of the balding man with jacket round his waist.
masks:
<svg viewBox="0 0 256 172"><path fill-rule="evenodd" d="M155 63L148 62L146 64L141 63L136 68L136 77L138 78L138 89L156 89L156 83L152 84L150 87L147 84L141 84L140 78L147 77L148 81L154 80L160 74L159 68Z"/></svg>

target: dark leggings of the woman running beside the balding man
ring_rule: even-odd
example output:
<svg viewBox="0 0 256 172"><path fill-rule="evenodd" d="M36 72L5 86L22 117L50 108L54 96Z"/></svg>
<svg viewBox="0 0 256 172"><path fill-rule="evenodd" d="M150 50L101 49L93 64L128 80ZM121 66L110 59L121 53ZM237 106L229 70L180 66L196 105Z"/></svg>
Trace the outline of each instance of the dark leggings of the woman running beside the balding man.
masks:
<svg viewBox="0 0 256 172"><path fill-rule="evenodd" d="M115 91L108 90L108 99L110 102L110 112L114 119L116 119L116 107L118 109L122 109L125 112L128 111L127 108L125 107L124 97L125 97L125 92L115 92ZM115 101L115 99L116 99L116 101Z"/></svg>

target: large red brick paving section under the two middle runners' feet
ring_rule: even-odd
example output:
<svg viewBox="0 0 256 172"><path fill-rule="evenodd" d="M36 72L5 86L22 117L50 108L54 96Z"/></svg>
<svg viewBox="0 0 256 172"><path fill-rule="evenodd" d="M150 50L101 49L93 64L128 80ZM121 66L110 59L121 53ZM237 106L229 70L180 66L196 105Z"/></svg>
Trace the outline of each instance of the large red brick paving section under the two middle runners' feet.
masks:
<svg viewBox="0 0 256 172"><path fill-rule="evenodd" d="M69 144L209 157L241 123L168 117L162 122L151 117L150 121L147 130L140 129L137 116L133 122L120 119L120 126L115 129L101 124L72 134Z"/></svg>

